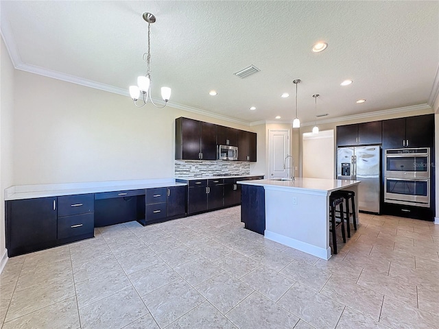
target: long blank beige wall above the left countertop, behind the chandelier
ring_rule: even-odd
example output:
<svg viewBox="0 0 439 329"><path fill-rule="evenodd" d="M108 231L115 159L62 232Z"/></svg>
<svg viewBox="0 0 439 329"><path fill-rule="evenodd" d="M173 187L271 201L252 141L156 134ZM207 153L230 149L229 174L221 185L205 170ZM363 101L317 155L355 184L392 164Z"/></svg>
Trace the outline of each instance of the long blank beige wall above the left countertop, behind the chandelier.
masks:
<svg viewBox="0 0 439 329"><path fill-rule="evenodd" d="M23 71L15 86L14 185L173 177L177 117L252 131Z"/></svg>

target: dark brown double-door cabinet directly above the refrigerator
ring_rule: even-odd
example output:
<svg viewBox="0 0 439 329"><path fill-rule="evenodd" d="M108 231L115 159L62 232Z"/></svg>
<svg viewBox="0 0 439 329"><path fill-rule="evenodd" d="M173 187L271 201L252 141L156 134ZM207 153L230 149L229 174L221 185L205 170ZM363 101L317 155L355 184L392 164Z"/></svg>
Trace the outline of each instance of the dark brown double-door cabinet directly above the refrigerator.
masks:
<svg viewBox="0 0 439 329"><path fill-rule="evenodd" d="M381 144L381 121L339 125L337 146Z"/></svg>

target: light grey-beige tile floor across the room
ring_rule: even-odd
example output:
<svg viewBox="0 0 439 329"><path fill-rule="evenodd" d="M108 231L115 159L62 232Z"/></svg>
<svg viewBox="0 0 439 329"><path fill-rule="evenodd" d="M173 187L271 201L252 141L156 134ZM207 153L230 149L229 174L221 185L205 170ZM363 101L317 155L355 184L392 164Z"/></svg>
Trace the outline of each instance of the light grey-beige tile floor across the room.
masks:
<svg viewBox="0 0 439 329"><path fill-rule="evenodd" d="M360 215L322 260L264 239L239 207L10 258L10 328L439 328L439 226Z"/></svg>

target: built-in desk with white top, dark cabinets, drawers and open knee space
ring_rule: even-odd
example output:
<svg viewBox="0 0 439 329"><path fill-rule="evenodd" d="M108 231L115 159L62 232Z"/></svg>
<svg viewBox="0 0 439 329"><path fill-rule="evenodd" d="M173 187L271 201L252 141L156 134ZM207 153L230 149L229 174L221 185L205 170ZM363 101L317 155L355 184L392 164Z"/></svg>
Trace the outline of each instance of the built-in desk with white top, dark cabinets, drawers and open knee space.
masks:
<svg viewBox="0 0 439 329"><path fill-rule="evenodd" d="M5 189L8 256L92 238L94 228L146 225L186 215L174 179L11 186Z"/></svg>

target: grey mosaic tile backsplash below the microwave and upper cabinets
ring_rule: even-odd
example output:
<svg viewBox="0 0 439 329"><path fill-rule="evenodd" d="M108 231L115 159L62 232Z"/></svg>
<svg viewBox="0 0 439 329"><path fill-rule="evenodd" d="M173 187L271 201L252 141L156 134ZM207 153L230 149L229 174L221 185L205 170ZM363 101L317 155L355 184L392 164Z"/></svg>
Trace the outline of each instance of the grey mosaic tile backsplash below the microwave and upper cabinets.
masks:
<svg viewBox="0 0 439 329"><path fill-rule="evenodd" d="M175 160L176 177L211 176L217 174L250 175L250 162Z"/></svg>

